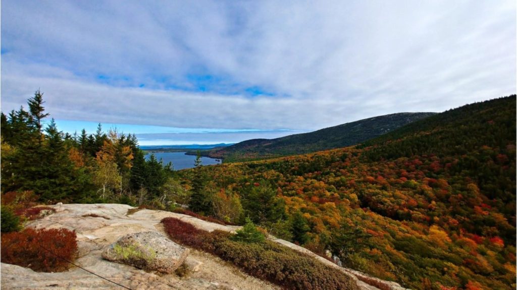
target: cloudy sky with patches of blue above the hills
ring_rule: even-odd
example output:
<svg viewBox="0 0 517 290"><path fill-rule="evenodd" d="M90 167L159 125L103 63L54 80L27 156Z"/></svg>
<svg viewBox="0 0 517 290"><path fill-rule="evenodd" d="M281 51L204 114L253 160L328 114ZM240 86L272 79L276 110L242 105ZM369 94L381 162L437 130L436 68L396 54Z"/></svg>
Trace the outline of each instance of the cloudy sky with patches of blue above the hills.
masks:
<svg viewBox="0 0 517 290"><path fill-rule="evenodd" d="M60 130L238 142L516 92L504 1L1 2L3 112Z"/></svg>

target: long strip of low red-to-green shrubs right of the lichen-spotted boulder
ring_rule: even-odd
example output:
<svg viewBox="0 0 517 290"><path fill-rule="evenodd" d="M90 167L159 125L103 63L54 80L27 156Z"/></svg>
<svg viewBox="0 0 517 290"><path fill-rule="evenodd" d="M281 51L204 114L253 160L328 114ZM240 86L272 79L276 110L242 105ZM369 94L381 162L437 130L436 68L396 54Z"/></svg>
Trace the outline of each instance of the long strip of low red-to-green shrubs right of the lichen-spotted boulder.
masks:
<svg viewBox="0 0 517 290"><path fill-rule="evenodd" d="M339 269L272 241L245 243L232 240L230 233L209 233L176 218L164 218L162 223L177 243L218 255L250 275L285 289L357 289L354 281Z"/></svg>

